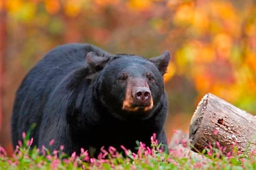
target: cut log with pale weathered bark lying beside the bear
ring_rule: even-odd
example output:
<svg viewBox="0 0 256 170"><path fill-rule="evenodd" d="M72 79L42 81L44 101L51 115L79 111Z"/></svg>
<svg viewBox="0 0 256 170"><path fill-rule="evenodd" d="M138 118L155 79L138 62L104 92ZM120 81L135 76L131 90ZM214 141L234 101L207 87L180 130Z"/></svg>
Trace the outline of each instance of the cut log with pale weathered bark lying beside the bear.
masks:
<svg viewBox="0 0 256 170"><path fill-rule="evenodd" d="M219 142L224 154L256 148L256 117L232 104L206 94L190 122L191 150L201 152Z"/></svg>

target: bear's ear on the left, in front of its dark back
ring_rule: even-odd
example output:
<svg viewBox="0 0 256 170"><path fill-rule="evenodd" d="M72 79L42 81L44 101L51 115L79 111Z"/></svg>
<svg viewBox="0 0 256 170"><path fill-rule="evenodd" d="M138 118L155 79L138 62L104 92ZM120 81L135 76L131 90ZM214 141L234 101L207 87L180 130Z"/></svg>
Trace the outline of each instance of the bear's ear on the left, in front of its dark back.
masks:
<svg viewBox="0 0 256 170"><path fill-rule="evenodd" d="M110 56L97 56L93 51L91 51L87 53L85 60L88 63L89 69L96 72L103 69L110 58Z"/></svg>

